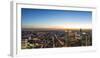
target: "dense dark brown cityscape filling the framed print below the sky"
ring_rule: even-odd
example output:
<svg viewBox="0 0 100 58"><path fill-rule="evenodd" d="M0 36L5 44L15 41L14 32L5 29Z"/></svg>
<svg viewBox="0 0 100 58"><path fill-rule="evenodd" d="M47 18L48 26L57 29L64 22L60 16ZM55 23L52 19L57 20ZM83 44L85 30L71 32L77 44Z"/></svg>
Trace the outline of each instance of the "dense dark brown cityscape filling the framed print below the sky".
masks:
<svg viewBox="0 0 100 58"><path fill-rule="evenodd" d="M22 30L22 49L78 47L91 45L91 29Z"/></svg>

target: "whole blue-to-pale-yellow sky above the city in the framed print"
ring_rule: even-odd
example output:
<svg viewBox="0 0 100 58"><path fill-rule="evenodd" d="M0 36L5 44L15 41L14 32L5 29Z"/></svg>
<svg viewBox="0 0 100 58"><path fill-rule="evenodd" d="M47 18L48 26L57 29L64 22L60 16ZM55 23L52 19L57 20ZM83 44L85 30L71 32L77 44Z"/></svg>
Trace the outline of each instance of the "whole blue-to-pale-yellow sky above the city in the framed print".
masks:
<svg viewBox="0 0 100 58"><path fill-rule="evenodd" d="M92 12L21 9L22 28L91 28Z"/></svg>

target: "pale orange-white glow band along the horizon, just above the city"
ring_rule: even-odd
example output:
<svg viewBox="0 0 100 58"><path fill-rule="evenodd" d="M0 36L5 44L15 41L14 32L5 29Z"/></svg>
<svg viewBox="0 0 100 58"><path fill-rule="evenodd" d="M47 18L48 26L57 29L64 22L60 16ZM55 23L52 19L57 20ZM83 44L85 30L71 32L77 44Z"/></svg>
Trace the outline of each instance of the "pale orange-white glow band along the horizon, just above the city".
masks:
<svg viewBox="0 0 100 58"><path fill-rule="evenodd" d="M53 26L46 26L46 25L39 25L39 26L33 26L33 25L27 25L26 28L47 28L47 29L91 29L91 24L77 24L77 23L68 23L64 25L53 25ZM24 28L24 27L22 27Z"/></svg>

